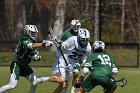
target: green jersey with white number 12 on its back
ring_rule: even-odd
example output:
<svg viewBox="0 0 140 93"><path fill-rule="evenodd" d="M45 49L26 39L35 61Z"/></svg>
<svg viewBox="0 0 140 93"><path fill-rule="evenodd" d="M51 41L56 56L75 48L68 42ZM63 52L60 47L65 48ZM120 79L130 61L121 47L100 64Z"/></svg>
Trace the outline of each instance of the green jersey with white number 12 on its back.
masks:
<svg viewBox="0 0 140 93"><path fill-rule="evenodd" d="M112 76L112 68L116 67L114 59L104 53L92 53L85 64L92 63L91 73L98 76Z"/></svg>

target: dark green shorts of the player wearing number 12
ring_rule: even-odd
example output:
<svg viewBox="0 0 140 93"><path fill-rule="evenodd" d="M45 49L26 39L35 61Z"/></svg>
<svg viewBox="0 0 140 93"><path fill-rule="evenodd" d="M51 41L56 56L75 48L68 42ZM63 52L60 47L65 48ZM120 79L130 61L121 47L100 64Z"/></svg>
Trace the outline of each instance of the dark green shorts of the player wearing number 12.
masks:
<svg viewBox="0 0 140 93"><path fill-rule="evenodd" d="M104 89L111 89L116 86L115 81L109 77L90 74L82 83L81 87L86 92L89 92L97 85L101 85Z"/></svg>

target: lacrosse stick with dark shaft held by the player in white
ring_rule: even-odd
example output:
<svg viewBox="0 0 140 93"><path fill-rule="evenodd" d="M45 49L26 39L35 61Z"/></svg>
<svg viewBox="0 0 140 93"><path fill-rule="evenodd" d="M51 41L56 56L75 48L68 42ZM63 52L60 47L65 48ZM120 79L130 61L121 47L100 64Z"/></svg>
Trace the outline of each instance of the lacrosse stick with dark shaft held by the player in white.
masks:
<svg viewBox="0 0 140 93"><path fill-rule="evenodd" d="M51 27L49 27L49 37L51 38L53 43L58 43L59 44L59 42L57 40L57 37L54 36L53 32L54 32L53 29ZM58 47L58 49L59 49L59 51L60 51L60 53L61 53L61 55L62 55L62 57L63 57L63 59L64 59L64 61L66 63L66 66L68 66L68 62L67 62L67 60L66 60L66 58L65 58L65 56L64 56L64 54L63 54L63 52L61 50L61 47Z"/></svg>

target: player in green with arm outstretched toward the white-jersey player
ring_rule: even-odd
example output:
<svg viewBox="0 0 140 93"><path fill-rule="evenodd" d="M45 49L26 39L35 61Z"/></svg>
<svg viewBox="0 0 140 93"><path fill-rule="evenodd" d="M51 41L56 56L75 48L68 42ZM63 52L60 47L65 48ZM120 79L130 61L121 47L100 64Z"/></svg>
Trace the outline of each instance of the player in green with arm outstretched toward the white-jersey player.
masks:
<svg viewBox="0 0 140 93"><path fill-rule="evenodd" d="M39 61L41 56L37 48L48 47L53 43L48 40L43 40L42 43L37 43L38 29L35 25L26 25L24 35L19 40L16 48L16 55L10 65L11 77L7 85L0 87L0 93L11 90L16 87L19 76L25 77L31 82L29 93L35 93L36 86L32 84L36 76L29 66L31 60Z"/></svg>

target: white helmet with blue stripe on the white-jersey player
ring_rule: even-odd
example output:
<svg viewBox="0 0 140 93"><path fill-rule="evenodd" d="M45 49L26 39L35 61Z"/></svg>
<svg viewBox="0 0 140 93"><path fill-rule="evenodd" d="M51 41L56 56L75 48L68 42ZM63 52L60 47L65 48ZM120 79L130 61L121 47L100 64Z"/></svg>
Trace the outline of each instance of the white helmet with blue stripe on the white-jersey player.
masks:
<svg viewBox="0 0 140 93"><path fill-rule="evenodd" d="M85 28L80 28L79 32L78 32L78 38L80 40L80 43L83 46L86 46L87 43L89 42L89 39L90 39L89 31L87 29L85 29Z"/></svg>

